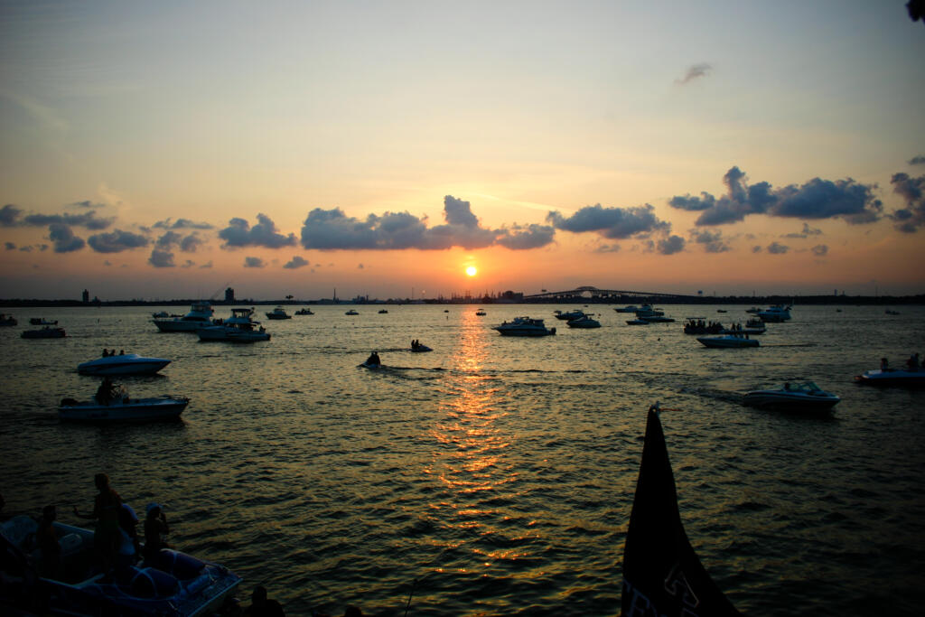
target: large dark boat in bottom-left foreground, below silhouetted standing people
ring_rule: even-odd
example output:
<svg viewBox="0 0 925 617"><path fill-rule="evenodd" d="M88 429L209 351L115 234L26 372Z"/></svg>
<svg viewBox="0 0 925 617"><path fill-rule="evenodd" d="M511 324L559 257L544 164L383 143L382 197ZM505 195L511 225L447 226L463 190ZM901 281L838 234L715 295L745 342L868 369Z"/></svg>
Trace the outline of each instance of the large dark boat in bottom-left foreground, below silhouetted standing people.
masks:
<svg viewBox="0 0 925 617"><path fill-rule="evenodd" d="M97 565L92 529L57 521L54 527L61 547L57 568L61 574L27 576L16 595L7 595L5 585L0 605L6 611L32 614L34 606L27 603L43 598L42 614L204 617L219 611L240 585L240 576L228 568L171 549L161 549L150 560L107 577ZM37 531L37 522L27 514L0 525L5 570L7 564L12 571L50 570L43 563L42 549L33 549Z"/></svg>

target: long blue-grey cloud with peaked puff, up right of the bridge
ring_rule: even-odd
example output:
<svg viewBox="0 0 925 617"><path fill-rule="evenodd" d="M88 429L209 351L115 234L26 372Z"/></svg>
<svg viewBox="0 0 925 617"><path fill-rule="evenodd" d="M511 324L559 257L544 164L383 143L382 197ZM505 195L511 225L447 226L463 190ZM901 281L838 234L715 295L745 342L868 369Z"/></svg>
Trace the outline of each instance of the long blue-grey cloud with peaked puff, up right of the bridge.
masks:
<svg viewBox="0 0 925 617"><path fill-rule="evenodd" d="M882 203L875 199L876 185L853 179L814 178L805 184L772 189L768 182L748 185L746 174L732 167L723 176L726 194L719 199L707 192L700 197L675 196L669 205L680 210L700 211L697 226L724 225L744 220L748 215L790 216L796 218L842 218L852 225L872 223L882 215Z"/></svg>

